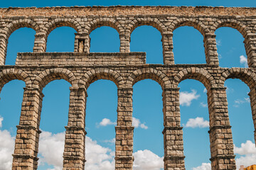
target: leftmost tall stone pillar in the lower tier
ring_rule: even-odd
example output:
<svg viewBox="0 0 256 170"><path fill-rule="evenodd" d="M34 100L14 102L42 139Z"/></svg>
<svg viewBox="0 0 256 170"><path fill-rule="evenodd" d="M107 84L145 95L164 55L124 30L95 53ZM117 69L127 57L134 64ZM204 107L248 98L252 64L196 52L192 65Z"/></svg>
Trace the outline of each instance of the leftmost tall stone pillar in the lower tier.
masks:
<svg viewBox="0 0 256 170"><path fill-rule="evenodd" d="M39 123L43 94L39 89L24 88L20 123L13 154L13 170L36 170L38 166Z"/></svg>

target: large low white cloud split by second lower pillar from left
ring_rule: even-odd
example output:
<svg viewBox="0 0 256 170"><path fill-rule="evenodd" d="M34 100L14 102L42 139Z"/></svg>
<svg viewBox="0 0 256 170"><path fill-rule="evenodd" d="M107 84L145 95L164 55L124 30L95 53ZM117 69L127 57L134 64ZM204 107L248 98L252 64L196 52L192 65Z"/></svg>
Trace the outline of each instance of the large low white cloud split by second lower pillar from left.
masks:
<svg viewBox="0 0 256 170"><path fill-rule="evenodd" d="M62 169L65 132L52 134L42 132L39 143L39 152L42 155L40 165L53 165L54 170ZM54 152L52 152L54 150ZM97 145L90 137L85 138L86 169L112 170L114 169L114 152Z"/></svg>

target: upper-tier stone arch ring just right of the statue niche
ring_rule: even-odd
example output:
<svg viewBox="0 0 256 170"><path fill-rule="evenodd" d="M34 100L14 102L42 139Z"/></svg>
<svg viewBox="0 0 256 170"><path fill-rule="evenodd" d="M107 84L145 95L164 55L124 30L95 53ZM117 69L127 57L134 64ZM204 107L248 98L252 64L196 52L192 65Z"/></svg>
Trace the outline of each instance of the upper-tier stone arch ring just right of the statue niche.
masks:
<svg viewBox="0 0 256 170"><path fill-rule="evenodd" d="M92 33L92 30L95 30L96 28L100 28L102 26L109 26L111 28L114 28L115 30L117 30L119 35L123 34L124 32L124 29L122 28L119 21L115 20L114 18L97 18L95 20L92 20L85 26L84 32L90 35L90 33Z"/></svg>

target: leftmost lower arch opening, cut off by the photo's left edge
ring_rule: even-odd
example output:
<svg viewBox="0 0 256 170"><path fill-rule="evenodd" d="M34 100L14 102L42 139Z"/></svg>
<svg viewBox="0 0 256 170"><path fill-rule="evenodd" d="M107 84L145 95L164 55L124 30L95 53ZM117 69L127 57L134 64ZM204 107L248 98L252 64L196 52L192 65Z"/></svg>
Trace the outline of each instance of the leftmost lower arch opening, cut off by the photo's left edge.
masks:
<svg viewBox="0 0 256 170"><path fill-rule="evenodd" d="M0 159L2 169L11 169L16 137L16 125L19 125L21 103L25 82L12 80L4 85L0 94Z"/></svg>

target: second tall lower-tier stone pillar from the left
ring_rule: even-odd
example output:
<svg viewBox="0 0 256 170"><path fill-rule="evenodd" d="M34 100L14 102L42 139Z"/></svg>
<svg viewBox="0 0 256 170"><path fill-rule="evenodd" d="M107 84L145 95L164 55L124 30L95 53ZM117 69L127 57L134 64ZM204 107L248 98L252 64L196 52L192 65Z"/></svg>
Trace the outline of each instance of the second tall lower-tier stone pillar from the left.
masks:
<svg viewBox="0 0 256 170"><path fill-rule="evenodd" d="M85 169L85 103L84 88L70 87L68 126L65 126L63 170Z"/></svg>

